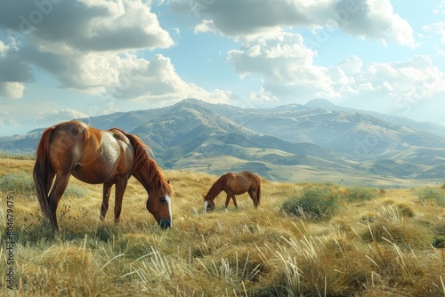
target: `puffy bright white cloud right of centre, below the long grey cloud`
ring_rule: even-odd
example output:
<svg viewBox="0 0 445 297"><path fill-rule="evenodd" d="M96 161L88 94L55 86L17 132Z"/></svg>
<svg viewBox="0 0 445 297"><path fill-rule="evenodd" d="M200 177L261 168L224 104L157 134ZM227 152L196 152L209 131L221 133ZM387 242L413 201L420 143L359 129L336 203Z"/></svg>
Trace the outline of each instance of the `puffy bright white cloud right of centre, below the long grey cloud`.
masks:
<svg viewBox="0 0 445 297"><path fill-rule="evenodd" d="M282 33L273 39L245 43L241 50L228 52L227 61L241 77L263 77L264 90L259 92L261 96L255 96L255 100L336 97L327 68L314 65L315 55L316 52L304 46L302 36Z"/></svg>

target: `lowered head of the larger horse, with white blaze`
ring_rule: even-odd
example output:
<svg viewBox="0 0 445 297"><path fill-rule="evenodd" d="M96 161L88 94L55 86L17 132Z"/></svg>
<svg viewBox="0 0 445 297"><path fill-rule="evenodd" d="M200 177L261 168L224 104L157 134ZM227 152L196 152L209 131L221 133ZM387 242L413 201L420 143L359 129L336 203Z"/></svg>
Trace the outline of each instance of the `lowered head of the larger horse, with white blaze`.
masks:
<svg viewBox="0 0 445 297"><path fill-rule="evenodd" d="M172 198L169 193L171 194L170 181L158 179L147 200L147 210L153 214L162 229L172 226Z"/></svg>

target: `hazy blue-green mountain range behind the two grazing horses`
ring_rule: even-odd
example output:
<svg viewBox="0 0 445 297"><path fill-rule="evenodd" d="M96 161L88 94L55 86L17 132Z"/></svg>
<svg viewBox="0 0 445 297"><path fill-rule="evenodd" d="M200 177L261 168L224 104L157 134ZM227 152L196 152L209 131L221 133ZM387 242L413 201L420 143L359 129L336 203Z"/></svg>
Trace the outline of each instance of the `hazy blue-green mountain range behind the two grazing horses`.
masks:
<svg viewBox="0 0 445 297"><path fill-rule="evenodd" d="M326 100L309 103L266 109L188 99L79 120L138 135L163 168L214 174L250 170L272 181L441 181L445 136L342 111ZM33 152L43 130L1 137L0 150Z"/></svg>

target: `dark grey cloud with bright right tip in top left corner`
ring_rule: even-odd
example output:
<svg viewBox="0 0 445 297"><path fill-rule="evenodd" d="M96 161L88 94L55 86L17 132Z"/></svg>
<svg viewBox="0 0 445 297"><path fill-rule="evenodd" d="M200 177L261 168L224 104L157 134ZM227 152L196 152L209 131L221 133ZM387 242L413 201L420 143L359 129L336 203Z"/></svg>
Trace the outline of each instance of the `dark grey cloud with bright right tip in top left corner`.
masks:
<svg viewBox="0 0 445 297"><path fill-rule="evenodd" d="M10 1L0 26L32 36L41 52L120 51L173 45L142 1Z"/></svg>

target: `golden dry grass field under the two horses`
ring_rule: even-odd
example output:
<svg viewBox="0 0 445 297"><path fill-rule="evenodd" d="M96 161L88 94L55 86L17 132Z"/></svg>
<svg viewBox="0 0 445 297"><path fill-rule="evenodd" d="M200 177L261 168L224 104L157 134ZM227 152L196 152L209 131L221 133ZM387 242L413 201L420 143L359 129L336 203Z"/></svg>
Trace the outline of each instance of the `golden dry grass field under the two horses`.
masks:
<svg viewBox="0 0 445 297"><path fill-rule="evenodd" d="M215 211L203 213L201 195L216 177L166 171L174 219L161 230L135 179L117 226L112 200L99 221L101 185L71 179L58 209L62 230L53 235L36 201L33 165L0 159L1 295L445 295L439 187L263 181L258 209L245 194L225 210L221 194Z"/></svg>

